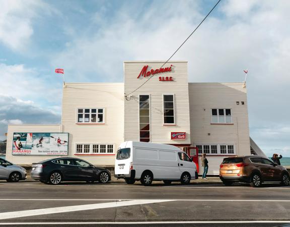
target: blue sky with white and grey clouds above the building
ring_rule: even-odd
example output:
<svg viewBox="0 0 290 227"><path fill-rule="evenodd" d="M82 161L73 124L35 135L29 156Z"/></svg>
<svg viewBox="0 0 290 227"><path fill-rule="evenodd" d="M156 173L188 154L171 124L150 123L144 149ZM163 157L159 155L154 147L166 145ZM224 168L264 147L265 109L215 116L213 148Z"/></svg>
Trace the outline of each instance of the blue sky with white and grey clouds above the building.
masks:
<svg viewBox="0 0 290 227"><path fill-rule="evenodd" d="M67 82L122 82L123 61L166 60L215 0L0 0L0 140L8 124L60 123ZM290 156L290 1L222 0L174 56L189 82L242 82L250 135Z"/></svg>

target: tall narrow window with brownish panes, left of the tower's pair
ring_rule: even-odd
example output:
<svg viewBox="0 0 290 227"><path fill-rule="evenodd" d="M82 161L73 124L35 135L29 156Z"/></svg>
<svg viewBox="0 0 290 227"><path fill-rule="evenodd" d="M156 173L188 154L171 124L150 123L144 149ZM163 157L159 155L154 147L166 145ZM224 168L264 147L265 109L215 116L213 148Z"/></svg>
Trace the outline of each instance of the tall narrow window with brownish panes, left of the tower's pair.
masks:
<svg viewBox="0 0 290 227"><path fill-rule="evenodd" d="M149 95L139 95L139 136L141 142L150 142L150 100Z"/></svg>

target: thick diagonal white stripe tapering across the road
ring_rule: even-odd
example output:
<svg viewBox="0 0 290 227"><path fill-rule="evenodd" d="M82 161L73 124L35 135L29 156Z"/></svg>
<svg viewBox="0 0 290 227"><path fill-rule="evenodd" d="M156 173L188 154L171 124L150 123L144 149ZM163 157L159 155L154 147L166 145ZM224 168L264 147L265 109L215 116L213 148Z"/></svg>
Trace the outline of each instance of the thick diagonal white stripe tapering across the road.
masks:
<svg viewBox="0 0 290 227"><path fill-rule="evenodd" d="M52 214L52 213L64 213L64 212L73 212L73 211L83 211L83 210L93 210L93 209L103 209L103 208L112 208L120 206L131 206L139 204L149 204L149 203L160 203L160 202L170 202L174 200L151 200L151 199L140 199L140 200L131 200L131 201L120 201L120 202L108 202L108 203L96 203L88 205L77 205L77 206L63 206L63 207L53 207L53 208L44 208L44 209L34 209L34 210L21 210L21 211L12 211L0 213L0 219L9 219L16 217L28 217L36 216L43 214Z"/></svg>

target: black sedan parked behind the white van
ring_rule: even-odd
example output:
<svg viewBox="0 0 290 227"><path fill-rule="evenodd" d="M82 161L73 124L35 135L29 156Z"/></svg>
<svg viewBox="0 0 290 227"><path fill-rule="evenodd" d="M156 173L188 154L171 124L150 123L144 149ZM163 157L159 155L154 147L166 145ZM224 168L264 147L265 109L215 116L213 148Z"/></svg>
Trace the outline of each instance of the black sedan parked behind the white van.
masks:
<svg viewBox="0 0 290 227"><path fill-rule="evenodd" d="M111 174L80 158L53 158L32 164L31 178L43 183L58 185L62 181L86 181L108 183Z"/></svg>

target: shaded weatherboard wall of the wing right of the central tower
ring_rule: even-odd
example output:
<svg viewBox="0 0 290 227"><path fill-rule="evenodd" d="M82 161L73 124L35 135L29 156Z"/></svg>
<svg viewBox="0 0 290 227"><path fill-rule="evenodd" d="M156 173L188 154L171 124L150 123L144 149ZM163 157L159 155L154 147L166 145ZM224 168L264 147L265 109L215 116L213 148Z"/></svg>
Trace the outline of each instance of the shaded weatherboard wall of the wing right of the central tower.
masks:
<svg viewBox="0 0 290 227"><path fill-rule="evenodd" d="M247 90L243 88L243 83L189 83L188 86L191 143L234 144L237 155L250 155ZM241 101L245 104L242 105ZM212 108L232 109L233 124L210 124ZM209 175L219 174L219 165L224 157L207 156ZM200 170L202 173L203 169Z"/></svg>

